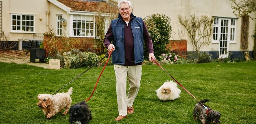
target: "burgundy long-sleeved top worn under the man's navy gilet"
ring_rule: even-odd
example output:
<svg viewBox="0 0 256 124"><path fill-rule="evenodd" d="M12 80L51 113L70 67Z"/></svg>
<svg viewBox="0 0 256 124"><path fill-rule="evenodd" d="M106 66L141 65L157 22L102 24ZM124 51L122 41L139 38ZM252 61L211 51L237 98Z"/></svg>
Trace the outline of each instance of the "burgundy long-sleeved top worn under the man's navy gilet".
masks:
<svg viewBox="0 0 256 124"><path fill-rule="evenodd" d="M121 18L121 20L123 20ZM131 14L131 19L132 20L132 14ZM125 66L131 66L131 65L141 65L141 63L137 63L135 64L134 61L134 44L133 44L133 34L132 34L132 29L131 29L131 24L130 22L128 23L128 25L126 24L126 22L123 20L124 24L125 24L125 29L124 29L124 44L125 44ZM111 24L108 27L108 31L106 33L106 36L103 40L103 44L106 48L108 48L108 46L111 44L111 42L113 41L113 32L112 32L112 27ZM149 35L149 32L147 30L146 24L143 21L143 38L145 41L145 45L148 49L149 53L154 53L153 50L153 42L152 39Z"/></svg>

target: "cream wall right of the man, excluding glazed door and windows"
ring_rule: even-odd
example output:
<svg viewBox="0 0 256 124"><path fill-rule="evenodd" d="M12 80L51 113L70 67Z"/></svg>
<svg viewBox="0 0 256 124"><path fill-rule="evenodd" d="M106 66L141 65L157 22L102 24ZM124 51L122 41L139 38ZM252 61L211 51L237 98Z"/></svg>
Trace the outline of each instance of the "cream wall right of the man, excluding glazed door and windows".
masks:
<svg viewBox="0 0 256 124"><path fill-rule="evenodd" d="M206 15L208 17L219 16L227 18L237 18L226 0L131 0L133 3L133 14L145 18L152 14L165 14L171 18L172 38L171 40L188 40L188 51L193 51L190 39L185 35L186 30L180 25L177 15L189 17ZM255 17L255 15L253 15ZM241 18L236 20L235 44L230 44L230 51L240 51L240 29ZM249 51L253 50L253 34L255 20L250 19L249 23ZM218 44L204 46L203 51L218 51Z"/></svg>

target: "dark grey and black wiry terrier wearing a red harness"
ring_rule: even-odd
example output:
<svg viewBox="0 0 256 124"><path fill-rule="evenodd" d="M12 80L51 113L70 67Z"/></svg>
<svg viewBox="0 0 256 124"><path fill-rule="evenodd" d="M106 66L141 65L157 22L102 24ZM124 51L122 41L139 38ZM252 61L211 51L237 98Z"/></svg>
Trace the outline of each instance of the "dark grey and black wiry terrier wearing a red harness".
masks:
<svg viewBox="0 0 256 124"><path fill-rule="evenodd" d="M206 103L210 100L201 100L200 102ZM221 123L220 121L220 117L221 114L218 111L214 111L212 108L209 108L208 106L206 106L205 104L203 104L205 107L207 107L208 109L206 109L201 103L197 103L195 104L195 108L193 110L193 116L194 116L194 120L196 121L197 119L199 119L202 124L208 124L208 123L213 123L213 124L217 124L217 123Z"/></svg>

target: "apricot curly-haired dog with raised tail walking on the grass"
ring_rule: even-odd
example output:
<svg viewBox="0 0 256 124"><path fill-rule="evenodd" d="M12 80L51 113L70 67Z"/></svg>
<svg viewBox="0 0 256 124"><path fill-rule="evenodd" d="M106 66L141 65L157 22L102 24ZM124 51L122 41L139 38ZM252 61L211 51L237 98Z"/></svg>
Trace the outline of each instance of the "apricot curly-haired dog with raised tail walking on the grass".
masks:
<svg viewBox="0 0 256 124"><path fill-rule="evenodd" d="M70 87L69 90L64 93L57 93L55 95L50 94L39 94L37 99L39 102L37 105L43 109L43 113L46 115L46 118L49 119L53 117L57 113L61 113L65 108L64 113L62 115L66 115L71 106L71 97L73 88Z"/></svg>

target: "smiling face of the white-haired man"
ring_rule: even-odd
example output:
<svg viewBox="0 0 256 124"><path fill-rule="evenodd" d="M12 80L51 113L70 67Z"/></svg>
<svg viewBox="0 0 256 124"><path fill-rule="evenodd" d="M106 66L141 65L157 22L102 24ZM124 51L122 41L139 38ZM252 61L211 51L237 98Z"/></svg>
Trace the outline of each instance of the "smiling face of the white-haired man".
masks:
<svg viewBox="0 0 256 124"><path fill-rule="evenodd" d="M121 3L119 13L121 14L124 21L130 21L131 8L128 3Z"/></svg>

